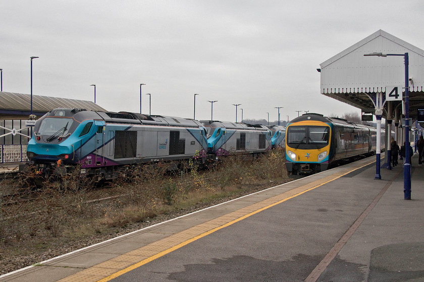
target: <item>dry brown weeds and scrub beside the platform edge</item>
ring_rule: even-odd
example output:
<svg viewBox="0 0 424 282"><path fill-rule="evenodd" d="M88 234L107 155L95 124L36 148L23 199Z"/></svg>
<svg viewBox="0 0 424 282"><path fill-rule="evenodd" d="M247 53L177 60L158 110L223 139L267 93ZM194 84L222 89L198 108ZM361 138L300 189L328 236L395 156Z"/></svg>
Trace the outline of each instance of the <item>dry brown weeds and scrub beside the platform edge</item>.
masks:
<svg viewBox="0 0 424 282"><path fill-rule="evenodd" d="M191 170L189 163L176 175L163 173L166 164L140 166L100 189L92 189L78 174L69 175L34 190L35 200L12 205L5 204L4 182L0 274L288 182L284 156L284 150L253 160L235 155L200 172ZM26 183L27 176L15 182Z"/></svg>

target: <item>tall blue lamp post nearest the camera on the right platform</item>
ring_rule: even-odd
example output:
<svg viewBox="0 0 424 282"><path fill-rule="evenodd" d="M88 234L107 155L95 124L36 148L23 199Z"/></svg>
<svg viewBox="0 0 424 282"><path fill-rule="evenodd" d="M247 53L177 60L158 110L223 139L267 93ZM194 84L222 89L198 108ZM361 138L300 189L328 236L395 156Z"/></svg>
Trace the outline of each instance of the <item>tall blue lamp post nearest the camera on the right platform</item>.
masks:
<svg viewBox="0 0 424 282"><path fill-rule="evenodd" d="M409 54L383 54L382 52L374 52L364 54L364 56L403 56L405 59L405 163L403 164L403 194L405 200L411 199L411 164L409 156ZM390 152L390 151L389 151Z"/></svg>

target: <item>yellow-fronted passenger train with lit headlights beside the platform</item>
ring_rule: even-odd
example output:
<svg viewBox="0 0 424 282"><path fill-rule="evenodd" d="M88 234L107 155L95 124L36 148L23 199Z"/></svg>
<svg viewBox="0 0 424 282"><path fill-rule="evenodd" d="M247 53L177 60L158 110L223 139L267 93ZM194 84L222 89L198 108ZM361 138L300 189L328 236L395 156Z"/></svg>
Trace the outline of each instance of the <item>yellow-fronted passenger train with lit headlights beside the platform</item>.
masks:
<svg viewBox="0 0 424 282"><path fill-rule="evenodd" d="M381 130L384 148L385 130ZM327 170L344 160L369 156L377 150L377 128L345 119L308 113L286 127L286 168L290 174Z"/></svg>

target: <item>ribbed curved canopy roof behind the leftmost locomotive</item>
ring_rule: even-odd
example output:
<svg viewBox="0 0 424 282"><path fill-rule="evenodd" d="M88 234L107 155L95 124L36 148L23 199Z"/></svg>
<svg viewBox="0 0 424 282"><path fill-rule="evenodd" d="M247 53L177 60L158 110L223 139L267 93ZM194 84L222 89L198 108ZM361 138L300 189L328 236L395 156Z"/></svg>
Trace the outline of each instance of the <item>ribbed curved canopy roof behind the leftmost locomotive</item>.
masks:
<svg viewBox="0 0 424 282"><path fill-rule="evenodd" d="M32 113L34 115L41 117L55 108L107 111L91 101L32 95ZM27 119L30 113L30 94L0 92L0 119Z"/></svg>

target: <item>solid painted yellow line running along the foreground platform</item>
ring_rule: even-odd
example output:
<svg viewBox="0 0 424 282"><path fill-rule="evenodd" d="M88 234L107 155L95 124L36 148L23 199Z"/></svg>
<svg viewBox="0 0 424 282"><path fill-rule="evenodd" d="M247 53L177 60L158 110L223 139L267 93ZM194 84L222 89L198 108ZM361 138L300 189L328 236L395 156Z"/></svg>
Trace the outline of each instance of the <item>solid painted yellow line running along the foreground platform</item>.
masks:
<svg viewBox="0 0 424 282"><path fill-rule="evenodd" d="M268 208L270 208L270 207L273 207L273 206L275 206L275 205L277 205L277 204L280 204L280 203L282 203L282 202L285 202L285 201L287 201L287 200L289 200L289 199L292 199L292 198L297 197L297 196L299 196L299 195L301 195L301 194L304 194L304 193L306 193L306 192L308 192L308 191L310 191L310 190L313 190L313 189L318 188L318 187L320 187L320 186L322 186L322 185L324 185L324 184L327 184L327 183L329 183L329 182L331 182L331 181L334 181L334 180L336 180L336 179L338 179L338 178L340 178L340 177L342 177L342 176L344 176L344 175L346 175L346 174L349 174L349 173L351 173L351 172L353 172L353 171L355 171L355 170L358 170L358 169L360 169L360 168L363 168L363 167L365 167L365 166L367 166L367 165L369 165L369 164L371 164L371 163L373 163L373 162L370 162L370 163L367 163L367 164L362 165L362 166L360 166L360 167L354 168L354 169L352 169L352 170L349 170L348 172L344 172L344 173L335 173L335 175L336 175L336 176L335 176L334 178L332 178L332 179L330 179L330 180L326 181L326 182L323 182L323 183L321 183L321 184L318 184L318 185L316 185L316 186L314 186L314 187L312 187L312 188L305 189L304 191L301 191L301 192L299 192L299 193L297 193L297 194L295 194L295 195L289 196L289 197L284 198L284 199L282 199L282 200L279 200L279 201L277 201L277 202L275 202L275 203L272 203L272 204L269 204L269 205L264 206L264 207L262 207L262 208L259 208L259 209L255 210L254 212L251 212L251 213L249 213L249 214L247 214L247 215L244 215L244 216L242 216L242 217L240 217L240 218L238 218L238 219L235 219L235 220L233 220L233 221L231 221L231 222L228 222L228 223L226 223L226 224L224 224L224 225L222 225L222 226L216 227L216 228L211 229L211 230L209 230L209 231L207 231L207 232L204 232L204 233L202 233L202 234L200 234L200 235L197 235L197 236L195 236L195 237L193 237L193 238L191 238L191 239L189 239L189 240L187 240L187 241L184 241L184 242L182 242L182 243L180 243L180 244L178 244L178 245L175 245L174 247L171 247L171 248L169 248L169 249L167 249L167 250L165 250L165 251L162 251L162 252L160 252L160 253L157 253L157 254L155 254L155 255L152 255L152 256L150 256L150 257L148 257L148 258L146 258L146 259L143 259L143 260L142 260L142 261L140 261L140 262L137 262L137 263L135 263L135 264L133 264L133 265L131 265L131 266L128 266L128 267L126 267L126 268L124 268L124 269L122 269L122 270L120 270L120 271L118 271L118 272L115 272L115 273L113 273L113 274L111 274L111 275L109 275L109 276L107 276L107 277L104 277L104 278L102 278L102 279L100 279L100 280L97 280L97 282L107 282L107 281L110 281L110 280L112 280L112 279L114 279L114 278L116 278L116 277L118 277L118 276L121 276L122 274L125 274L125 273L127 273L127 272L129 272L129 271L131 271L131 270L134 270L135 268L140 267L140 266L142 266L142 265L144 265L144 264L146 264L146 263L148 263L148 262L150 262L150 261L153 261L153 260L155 260L155 259L157 259L157 258L160 258L160 257L162 257L162 256L164 256L164 255L166 255L166 254L169 254L169 253L171 253L171 252L173 252L173 251L175 251L175 250L177 250L177 249L179 249L179 248L181 248L181 247L184 247L185 245L188 245L188 244L190 244L191 242L194 242L194 241L196 241L196 240L198 240L198 239L200 239L200 238L203 238L203 237L205 237L205 236L207 236L207 235L209 235L209 234L211 234L211 233L214 233L214 232L216 232L216 231L218 231L218 230L220 230L220 229L223 229L223 228L225 228L225 227L227 227L227 226L233 225L233 224L235 224L235 223L237 223L237 222L239 222L239 221L242 221L242 220L244 220L244 219L246 219L246 218L248 218L248 217L251 217L251 216L253 216L253 215L257 214L257 213L260 213L260 212L262 212L262 210L265 210L265 209L268 209ZM305 186L306 186L306 185L305 185Z"/></svg>

